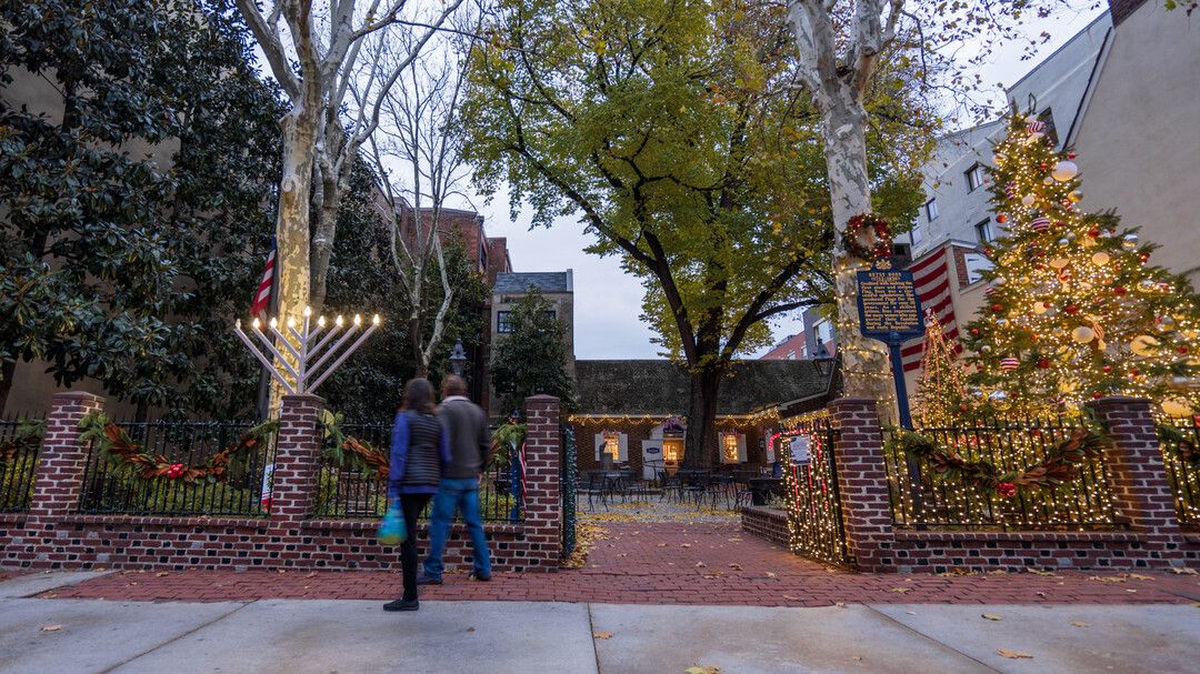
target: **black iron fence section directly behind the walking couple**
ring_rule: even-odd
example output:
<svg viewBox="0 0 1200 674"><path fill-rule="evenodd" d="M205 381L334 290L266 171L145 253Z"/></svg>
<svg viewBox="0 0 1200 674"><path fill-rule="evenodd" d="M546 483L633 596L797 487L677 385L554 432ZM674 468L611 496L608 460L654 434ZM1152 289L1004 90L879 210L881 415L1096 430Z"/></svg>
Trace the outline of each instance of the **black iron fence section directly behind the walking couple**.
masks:
<svg viewBox="0 0 1200 674"><path fill-rule="evenodd" d="M391 445L392 425L344 423L347 437L368 443L384 451ZM487 467L479 485L479 507L484 522L520 522L523 513L517 506L515 492L521 483L520 468L511 463L493 463ZM377 475L364 475L349 465L338 465L323 456L317 476L317 504L314 517L326 519L383 517L388 510L388 483ZM421 513L428 518L428 506Z"/></svg>

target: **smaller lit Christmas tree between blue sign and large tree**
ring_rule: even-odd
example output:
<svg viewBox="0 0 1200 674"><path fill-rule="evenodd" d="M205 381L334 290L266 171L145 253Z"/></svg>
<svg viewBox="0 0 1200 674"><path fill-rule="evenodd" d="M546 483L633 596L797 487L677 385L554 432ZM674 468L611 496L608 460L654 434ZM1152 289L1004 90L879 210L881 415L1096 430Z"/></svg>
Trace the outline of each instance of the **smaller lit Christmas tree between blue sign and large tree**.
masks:
<svg viewBox="0 0 1200 674"><path fill-rule="evenodd" d="M946 339L937 315L926 311L914 414L919 427L953 426L967 411L962 363L955 360L954 351L955 344Z"/></svg>

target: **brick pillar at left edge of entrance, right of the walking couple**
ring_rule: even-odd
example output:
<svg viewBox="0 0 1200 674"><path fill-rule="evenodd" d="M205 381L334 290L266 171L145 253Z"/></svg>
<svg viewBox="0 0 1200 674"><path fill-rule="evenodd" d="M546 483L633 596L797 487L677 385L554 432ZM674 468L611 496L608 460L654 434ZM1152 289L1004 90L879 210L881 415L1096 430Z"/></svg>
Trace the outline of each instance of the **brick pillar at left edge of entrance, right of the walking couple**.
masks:
<svg viewBox="0 0 1200 674"><path fill-rule="evenodd" d="M563 497L559 489L562 435L558 398L526 398L526 519L529 566L558 567L563 552Z"/></svg>

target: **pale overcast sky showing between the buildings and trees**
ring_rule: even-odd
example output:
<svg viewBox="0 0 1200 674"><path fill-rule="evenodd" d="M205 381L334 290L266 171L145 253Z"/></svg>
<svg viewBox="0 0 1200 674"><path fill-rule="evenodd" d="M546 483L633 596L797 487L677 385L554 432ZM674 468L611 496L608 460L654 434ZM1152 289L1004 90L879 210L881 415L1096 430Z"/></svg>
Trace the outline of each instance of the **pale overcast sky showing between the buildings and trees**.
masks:
<svg viewBox="0 0 1200 674"><path fill-rule="evenodd" d="M1032 34L1049 30L1051 40L1038 52L1039 58L1054 49L1091 23L1104 7L1081 7L1056 17L1050 28L1034 26ZM1021 61L1020 49L1001 49L994 54L991 65L983 71L986 83L1013 84L1037 64ZM530 216L522 212L516 222L509 217L506 195L499 194L491 204L476 204L486 217L488 236L508 237L509 254L515 271L575 272L575 355L578 359L652 359L658 357L658 348L650 343L649 327L638 320L642 306L642 287L634 277L625 276L618 258L599 258L583 252L592 243L582 233L582 225L571 218L558 218L554 225L529 229ZM800 331L797 317L785 317L774 326L775 341ZM763 349L748 357L766 353Z"/></svg>

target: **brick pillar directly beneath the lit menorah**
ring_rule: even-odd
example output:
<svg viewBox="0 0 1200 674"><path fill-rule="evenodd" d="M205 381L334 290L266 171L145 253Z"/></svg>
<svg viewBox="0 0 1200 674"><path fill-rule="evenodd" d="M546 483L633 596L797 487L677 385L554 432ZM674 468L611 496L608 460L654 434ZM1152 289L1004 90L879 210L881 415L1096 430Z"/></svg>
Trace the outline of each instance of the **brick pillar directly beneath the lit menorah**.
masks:
<svg viewBox="0 0 1200 674"><path fill-rule="evenodd" d="M324 407L319 396L283 396L271 485L272 522L296 523L312 514L320 462L318 421Z"/></svg>

